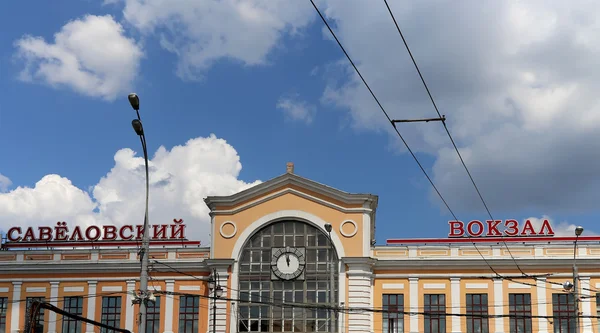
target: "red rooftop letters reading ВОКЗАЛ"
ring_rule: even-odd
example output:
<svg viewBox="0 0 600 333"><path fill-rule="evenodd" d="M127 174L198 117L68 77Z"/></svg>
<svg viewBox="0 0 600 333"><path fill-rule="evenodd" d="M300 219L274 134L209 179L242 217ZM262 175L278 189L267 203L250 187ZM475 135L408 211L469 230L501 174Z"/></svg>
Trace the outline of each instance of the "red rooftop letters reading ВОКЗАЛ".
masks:
<svg viewBox="0 0 600 333"><path fill-rule="evenodd" d="M485 224L473 220L466 225L463 221L448 221L448 225L448 237L554 236L554 230L548 220L544 220L537 231L530 220L525 221L522 227L517 220L487 220ZM504 227L504 230L500 230L502 228L499 227Z"/></svg>

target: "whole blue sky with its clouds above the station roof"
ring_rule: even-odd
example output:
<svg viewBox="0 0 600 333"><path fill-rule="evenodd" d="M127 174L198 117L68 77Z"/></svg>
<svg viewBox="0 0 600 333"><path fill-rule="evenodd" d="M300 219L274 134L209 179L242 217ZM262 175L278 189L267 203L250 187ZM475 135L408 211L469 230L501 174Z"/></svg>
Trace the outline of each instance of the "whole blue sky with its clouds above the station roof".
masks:
<svg viewBox="0 0 600 333"><path fill-rule="evenodd" d="M317 3L393 116L435 116L383 3ZM591 232L600 73L559 59L593 64L598 19L578 25L593 10L543 5L392 7L494 217L547 216L561 230ZM141 148L127 102L135 91L149 151L164 147L156 223L185 217L188 237L206 241L202 197L268 180L292 161L301 176L379 195L378 243L447 235L451 216L308 0L161 6L3 4L0 230L142 222ZM487 219L441 125L400 129L457 216Z"/></svg>

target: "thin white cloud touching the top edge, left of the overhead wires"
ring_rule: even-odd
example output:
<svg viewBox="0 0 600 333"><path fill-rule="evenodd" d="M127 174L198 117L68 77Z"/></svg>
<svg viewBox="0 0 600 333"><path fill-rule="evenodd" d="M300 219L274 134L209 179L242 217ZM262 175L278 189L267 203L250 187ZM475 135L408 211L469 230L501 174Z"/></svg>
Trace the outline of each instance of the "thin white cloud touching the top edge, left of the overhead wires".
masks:
<svg viewBox="0 0 600 333"><path fill-rule="evenodd" d="M199 79L219 60L264 65L285 33L314 17L302 1L123 0L125 20L179 58L177 74Z"/></svg>

